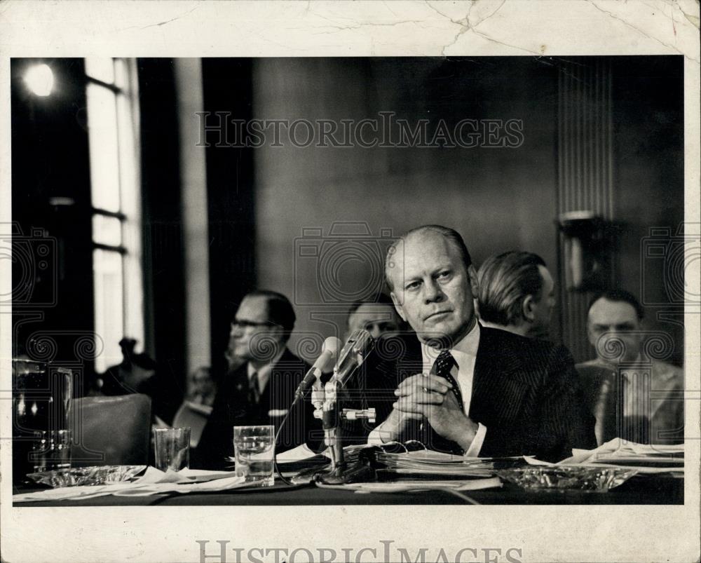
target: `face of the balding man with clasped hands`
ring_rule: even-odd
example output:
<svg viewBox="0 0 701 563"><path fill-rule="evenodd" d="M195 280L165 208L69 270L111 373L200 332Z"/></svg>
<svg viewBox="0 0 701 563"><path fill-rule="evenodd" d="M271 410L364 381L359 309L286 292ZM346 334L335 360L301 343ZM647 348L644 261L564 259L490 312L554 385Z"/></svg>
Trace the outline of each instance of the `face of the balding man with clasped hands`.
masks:
<svg viewBox="0 0 701 563"><path fill-rule="evenodd" d="M460 252L433 231L420 231L397 245L388 270L397 312L428 341L448 337L460 341L474 324L472 295L477 293L475 269L469 271Z"/></svg>

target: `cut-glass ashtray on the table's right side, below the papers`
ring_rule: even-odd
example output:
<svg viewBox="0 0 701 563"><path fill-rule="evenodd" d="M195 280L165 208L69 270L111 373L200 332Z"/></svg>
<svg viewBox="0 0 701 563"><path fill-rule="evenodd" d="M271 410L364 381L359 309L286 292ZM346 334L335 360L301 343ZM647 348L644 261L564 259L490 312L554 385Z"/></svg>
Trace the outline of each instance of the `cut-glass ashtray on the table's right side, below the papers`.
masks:
<svg viewBox="0 0 701 563"><path fill-rule="evenodd" d="M605 493L625 483L637 470L611 467L525 467L497 471L503 480L527 491L595 491Z"/></svg>

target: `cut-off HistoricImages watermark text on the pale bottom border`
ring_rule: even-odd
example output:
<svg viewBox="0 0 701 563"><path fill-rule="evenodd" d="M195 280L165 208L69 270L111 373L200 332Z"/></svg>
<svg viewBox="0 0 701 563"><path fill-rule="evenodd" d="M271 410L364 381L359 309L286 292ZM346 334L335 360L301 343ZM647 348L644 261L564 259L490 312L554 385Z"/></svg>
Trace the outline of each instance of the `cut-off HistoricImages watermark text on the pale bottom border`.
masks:
<svg viewBox="0 0 701 563"><path fill-rule="evenodd" d="M379 545L363 548L235 548L229 540L196 540L200 563L521 563L522 548L418 548Z"/></svg>

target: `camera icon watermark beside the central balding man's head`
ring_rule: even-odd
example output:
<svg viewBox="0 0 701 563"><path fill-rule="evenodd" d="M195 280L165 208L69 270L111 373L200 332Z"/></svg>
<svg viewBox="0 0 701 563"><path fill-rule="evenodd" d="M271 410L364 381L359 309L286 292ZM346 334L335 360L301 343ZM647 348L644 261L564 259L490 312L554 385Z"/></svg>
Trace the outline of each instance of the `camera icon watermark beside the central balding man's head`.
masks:
<svg viewBox="0 0 701 563"><path fill-rule="evenodd" d="M377 236L367 222L335 222L328 234L306 227L294 239L294 304L339 305L374 301L384 288L385 257L397 240Z"/></svg>

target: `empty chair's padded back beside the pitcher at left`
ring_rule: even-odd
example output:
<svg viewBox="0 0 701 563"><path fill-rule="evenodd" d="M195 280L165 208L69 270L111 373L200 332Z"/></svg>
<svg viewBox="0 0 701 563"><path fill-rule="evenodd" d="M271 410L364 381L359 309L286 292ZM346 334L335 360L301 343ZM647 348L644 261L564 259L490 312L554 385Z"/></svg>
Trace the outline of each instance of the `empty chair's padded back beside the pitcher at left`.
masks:
<svg viewBox="0 0 701 563"><path fill-rule="evenodd" d="M69 407L72 466L146 465L151 398L134 393L76 399Z"/></svg>

